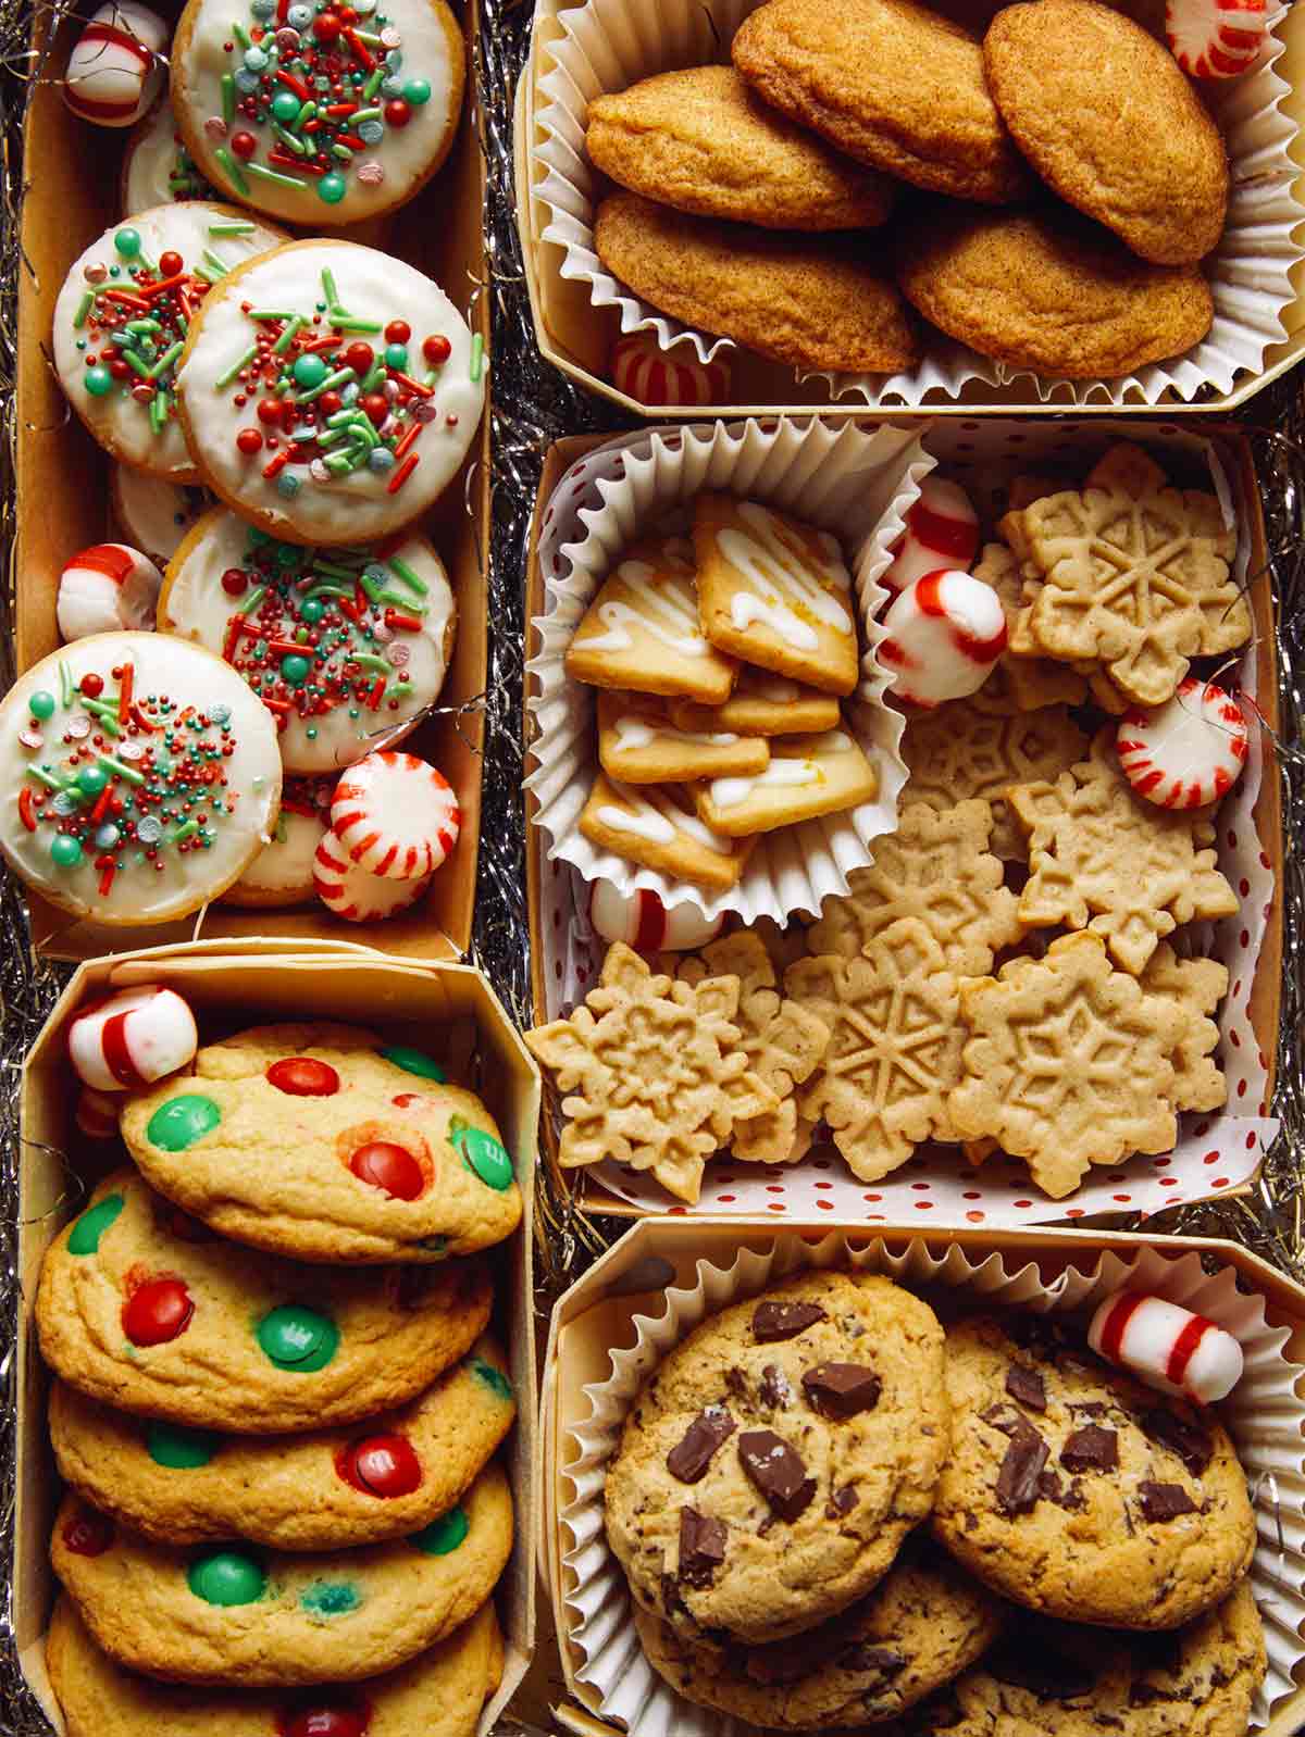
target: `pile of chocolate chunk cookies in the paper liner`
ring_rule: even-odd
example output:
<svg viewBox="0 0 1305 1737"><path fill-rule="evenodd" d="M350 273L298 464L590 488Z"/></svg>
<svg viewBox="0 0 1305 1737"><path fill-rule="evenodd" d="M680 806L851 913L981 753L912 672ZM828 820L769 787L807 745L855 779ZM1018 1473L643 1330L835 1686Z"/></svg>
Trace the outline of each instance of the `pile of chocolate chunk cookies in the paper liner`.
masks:
<svg viewBox="0 0 1305 1737"><path fill-rule="evenodd" d="M648 1662L752 1727L1241 1737L1267 1669L1218 1417L1041 1315L784 1280L645 1381L605 1508Z"/></svg>

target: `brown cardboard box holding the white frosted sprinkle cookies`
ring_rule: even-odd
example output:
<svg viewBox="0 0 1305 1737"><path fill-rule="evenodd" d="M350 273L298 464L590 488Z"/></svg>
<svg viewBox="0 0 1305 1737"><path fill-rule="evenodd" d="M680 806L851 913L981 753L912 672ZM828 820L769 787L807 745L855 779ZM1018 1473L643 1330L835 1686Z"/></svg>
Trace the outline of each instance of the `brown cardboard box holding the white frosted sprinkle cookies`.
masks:
<svg viewBox="0 0 1305 1737"><path fill-rule="evenodd" d="M177 0L162 0L172 17ZM476 43L476 0L462 7L467 61ZM109 459L68 406L49 363L54 304L78 254L120 215L118 172L125 130L92 127L64 106L57 75L82 28L75 14L36 10L33 52L49 43L49 71L31 87L24 149L28 193L23 203L24 269L17 318L17 547L14 554L14 648L17 670L59 646L54 618L63 565L89 544L116 540L109 523ZM434 278L480 330L488 347L485 297L485 168L471 115L462 108L454 151L422 193L384 222L365 226L358 240L398 254ZM485 690L485 585L488 570L488 406L467 460L421 526L448 570L459 610L457 643L440 705L460 705ZM332 936L367 941L417 959L455 959L471 943L480 844L481 714L433 717L407 742L448 778L462 808L462 835L454 856L412 910L388 922L354 924L311 903L294 910L240 910L212 905L193 917L141 929L106 929L76 921L31 895L36 948L56 959L92 959L111 950L177 945L200 926L207 935L278 935L288 941Z"/></svg>

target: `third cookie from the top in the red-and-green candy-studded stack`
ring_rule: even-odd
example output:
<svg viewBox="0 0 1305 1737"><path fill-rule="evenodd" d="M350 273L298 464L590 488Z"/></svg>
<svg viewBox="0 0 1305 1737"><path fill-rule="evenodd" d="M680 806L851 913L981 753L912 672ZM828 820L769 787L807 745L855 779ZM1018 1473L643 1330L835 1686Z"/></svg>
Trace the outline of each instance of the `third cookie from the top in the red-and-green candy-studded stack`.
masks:
<svg viewBox="0 0 1305 1737"><path fill-rule="evenodd" d="M63 1381L50 1390L64 1483L162 1544L344 1549L419 1532L462 1497L514 1416L492 1339L400 1410L308 1435L224 1436L111 1410Z"/></svg>

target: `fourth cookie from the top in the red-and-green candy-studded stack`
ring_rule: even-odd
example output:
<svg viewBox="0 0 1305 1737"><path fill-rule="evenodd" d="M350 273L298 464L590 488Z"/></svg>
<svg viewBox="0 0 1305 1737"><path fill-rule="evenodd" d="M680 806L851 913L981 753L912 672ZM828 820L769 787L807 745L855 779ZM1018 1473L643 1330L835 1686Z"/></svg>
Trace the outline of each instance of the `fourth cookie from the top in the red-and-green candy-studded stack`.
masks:
<svg viewBox="0 0 1305 1737"><path fill-rule="evenodd" d="M50 1562L96 1641L129 1669L264 1688L407 1664L480 1610L511 1548L513 1496L492 1464L410 1537L297 1556L151 1544L68 1496Z"/></svg>

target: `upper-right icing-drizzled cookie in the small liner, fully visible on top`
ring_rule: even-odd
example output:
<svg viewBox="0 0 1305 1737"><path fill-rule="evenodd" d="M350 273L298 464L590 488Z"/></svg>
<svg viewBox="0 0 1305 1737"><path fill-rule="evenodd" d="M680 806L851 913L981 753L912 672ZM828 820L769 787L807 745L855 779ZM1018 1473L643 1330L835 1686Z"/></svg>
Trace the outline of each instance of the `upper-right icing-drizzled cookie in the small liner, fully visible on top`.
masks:
<svg viewBox="0 0 1305 1737"><path fill-rule="evenodd" d="M732 495L693 504L702 631L745 664L822 693L857 686L851 575L836 537Z"/></svg>

